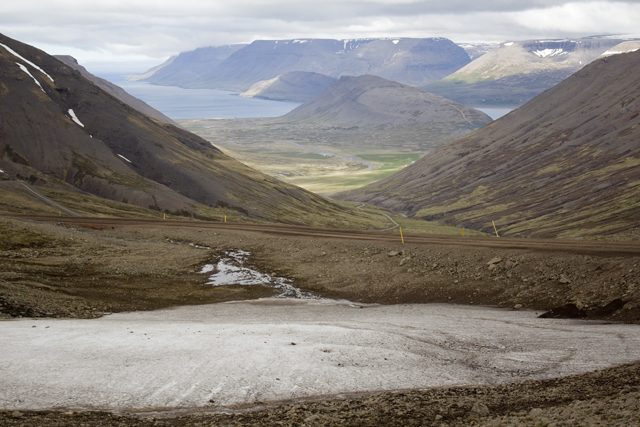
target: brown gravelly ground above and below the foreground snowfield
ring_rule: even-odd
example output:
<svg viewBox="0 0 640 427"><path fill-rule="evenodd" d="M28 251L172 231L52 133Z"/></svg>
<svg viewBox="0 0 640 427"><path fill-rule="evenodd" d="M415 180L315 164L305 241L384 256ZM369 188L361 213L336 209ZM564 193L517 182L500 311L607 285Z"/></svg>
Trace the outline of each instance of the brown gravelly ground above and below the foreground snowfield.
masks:
<svg viewBox="0 0 640 427"><path fill-rule="evenodd" d="M0 316L91 318L270 295L272 290L262 287L204 285L206 276L198 273L202 265L215 262L225 250L244 249L251 252L254 267L326 297L481 304L540 313L573 303L590 318L640 323L640 251L633 248L589 250L588 242L564 250L446 239L411 243L411 236L402 245L382 238L109 224L0 218ZM614 308L602 310L617 300ZM154 420L131 414L0 411L0 425L629 426L640 420L639 398L640 363L558 380L341 396L232 415Z"/></svg>

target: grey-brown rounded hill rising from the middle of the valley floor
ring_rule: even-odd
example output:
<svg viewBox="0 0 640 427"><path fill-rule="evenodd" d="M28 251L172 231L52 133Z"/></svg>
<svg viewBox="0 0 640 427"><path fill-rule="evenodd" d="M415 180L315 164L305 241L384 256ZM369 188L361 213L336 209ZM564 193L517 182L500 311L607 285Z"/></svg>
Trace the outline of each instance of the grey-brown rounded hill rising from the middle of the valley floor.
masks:
<svg viewBox="0 0 640 427"><path fill-rule="evenodd" d="M486 114L415 87L376 76L342 77L322 94L281 117L342 126L377 128L421 123L473 129L491 122Z"/></svg>

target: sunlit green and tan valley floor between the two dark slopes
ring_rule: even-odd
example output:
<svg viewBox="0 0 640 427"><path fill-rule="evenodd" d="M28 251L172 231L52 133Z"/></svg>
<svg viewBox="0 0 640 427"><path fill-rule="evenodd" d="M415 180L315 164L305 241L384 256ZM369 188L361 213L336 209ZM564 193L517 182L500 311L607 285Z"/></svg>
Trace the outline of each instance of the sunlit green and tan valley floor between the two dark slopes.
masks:
<svg viewBox="0 0 640 427"><path fill-rule="evenodd" d="M227 155L321 195L362 187L439 145L416 129L346 129L270 119L179 120Z"/></svg>

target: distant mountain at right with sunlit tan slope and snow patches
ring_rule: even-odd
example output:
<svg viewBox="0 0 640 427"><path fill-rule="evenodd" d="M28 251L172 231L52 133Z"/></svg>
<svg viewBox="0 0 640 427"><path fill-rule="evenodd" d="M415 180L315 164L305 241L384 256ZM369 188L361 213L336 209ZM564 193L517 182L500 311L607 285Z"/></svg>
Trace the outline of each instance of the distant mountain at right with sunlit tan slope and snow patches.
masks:
<svg viewBox="0 0 640 427"><path fill-rule="evenodd" d="M502 43L423 88L465 105L522 105L620 42L587 38Z"/></svg>

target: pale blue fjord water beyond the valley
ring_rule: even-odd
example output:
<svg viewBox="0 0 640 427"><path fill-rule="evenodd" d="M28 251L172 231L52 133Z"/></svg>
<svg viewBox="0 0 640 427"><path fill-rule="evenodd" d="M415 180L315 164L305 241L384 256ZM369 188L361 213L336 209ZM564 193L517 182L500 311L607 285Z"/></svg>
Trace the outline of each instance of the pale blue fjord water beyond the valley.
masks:
<svg viewBox="0 0 640 427"><path fill-rule="evenodd" d="M99 77L120 86L174 120L280 117L300 105L298 102L243 98L237 92L224 90L183 89L130 82L126 74L102 73ZM511 111L509 108L475 108L494 120Z"/></svg>

